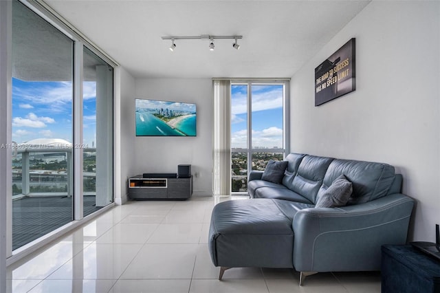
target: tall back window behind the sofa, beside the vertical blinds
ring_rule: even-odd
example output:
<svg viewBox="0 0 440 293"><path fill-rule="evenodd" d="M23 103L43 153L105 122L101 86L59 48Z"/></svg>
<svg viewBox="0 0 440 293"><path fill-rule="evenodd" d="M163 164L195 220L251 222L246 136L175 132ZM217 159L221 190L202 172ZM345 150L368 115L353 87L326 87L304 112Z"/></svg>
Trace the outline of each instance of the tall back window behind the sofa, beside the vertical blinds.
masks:
<svg viewBox="0 0 440 293"><path fill-rule="evenodd" d="M286 149L286 82L232 82L232 193L246 193L248 173L283 160Z"/></svg>

